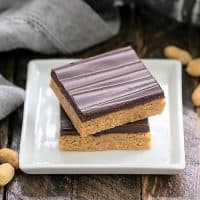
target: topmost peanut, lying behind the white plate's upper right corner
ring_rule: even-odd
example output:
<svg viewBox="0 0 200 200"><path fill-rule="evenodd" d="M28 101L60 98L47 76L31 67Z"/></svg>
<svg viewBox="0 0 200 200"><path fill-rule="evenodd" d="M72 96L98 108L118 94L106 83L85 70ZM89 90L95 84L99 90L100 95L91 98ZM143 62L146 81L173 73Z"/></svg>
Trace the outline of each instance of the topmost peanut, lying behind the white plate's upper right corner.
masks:
<svg viewBox="0 0 200 200"><path fill-rule="evenodd" d="M180 60L183 65L188 64L192 60L192 56L188 51L173 45L164 48L164 55L167 58Z"/></svg>

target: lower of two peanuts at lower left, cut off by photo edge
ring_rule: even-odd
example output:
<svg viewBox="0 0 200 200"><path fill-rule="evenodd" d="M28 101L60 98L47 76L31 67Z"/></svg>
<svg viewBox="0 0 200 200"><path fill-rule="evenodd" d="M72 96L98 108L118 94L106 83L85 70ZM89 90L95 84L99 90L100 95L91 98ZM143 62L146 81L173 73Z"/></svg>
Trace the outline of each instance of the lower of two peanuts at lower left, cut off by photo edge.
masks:
<svg viewBox="0 0 200 200"><path fill-rule="evenodd" d="M4 186L9 183L15 174L14 167L9 163L0 165L0 186Z"/></svg>

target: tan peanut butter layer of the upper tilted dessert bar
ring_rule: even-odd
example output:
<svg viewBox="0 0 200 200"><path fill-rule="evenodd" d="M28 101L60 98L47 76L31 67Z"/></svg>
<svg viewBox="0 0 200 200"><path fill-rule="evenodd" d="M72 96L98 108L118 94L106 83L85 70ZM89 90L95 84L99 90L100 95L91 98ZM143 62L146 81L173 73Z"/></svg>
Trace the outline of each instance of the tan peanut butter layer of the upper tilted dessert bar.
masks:
<svg viewBox="0 0 200 200"><path fill-rule="evenodd" d="M116 126L127 124L128 122L138 121L149 116L159 114L162 112L165 106L164 99L156 99L143 105L108 113L88 121L81 121L74 108L66 100L65 96L62 94L56 83L51 80L50 85L58 100L60 101L63 109L72 121L74 127L82 137L86 137L103 130L111 129Z"/></svg>

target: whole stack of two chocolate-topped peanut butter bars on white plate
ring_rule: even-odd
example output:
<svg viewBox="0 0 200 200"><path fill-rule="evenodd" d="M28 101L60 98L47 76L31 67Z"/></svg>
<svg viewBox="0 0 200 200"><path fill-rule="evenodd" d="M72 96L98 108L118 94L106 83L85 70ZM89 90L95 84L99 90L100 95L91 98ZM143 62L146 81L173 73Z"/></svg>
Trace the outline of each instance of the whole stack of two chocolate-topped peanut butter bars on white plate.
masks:
<svg viewBox="0 0 200 200"><path fill-rule="evenodd" d="M62 150L149 149L148 117L163 111L164 92L131 47L53 69L61 104Z"/></svg>

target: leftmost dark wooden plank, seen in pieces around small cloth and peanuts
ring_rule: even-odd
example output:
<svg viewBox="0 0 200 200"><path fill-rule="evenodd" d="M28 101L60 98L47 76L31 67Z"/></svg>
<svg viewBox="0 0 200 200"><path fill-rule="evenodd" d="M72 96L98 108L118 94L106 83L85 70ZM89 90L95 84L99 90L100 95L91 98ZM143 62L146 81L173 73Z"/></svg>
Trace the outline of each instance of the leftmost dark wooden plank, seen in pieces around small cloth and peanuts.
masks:
<svg viewBox="0 0 200 200"><path fill-rule="evenodd" d="M12 53L1 53L0 54L0 74L6 79L13 80L13 68L15 59ZM6 147L8 144L8 118L0 121L0 148ZM0 187L0 200L4 198L4 187Z"/></svg>

